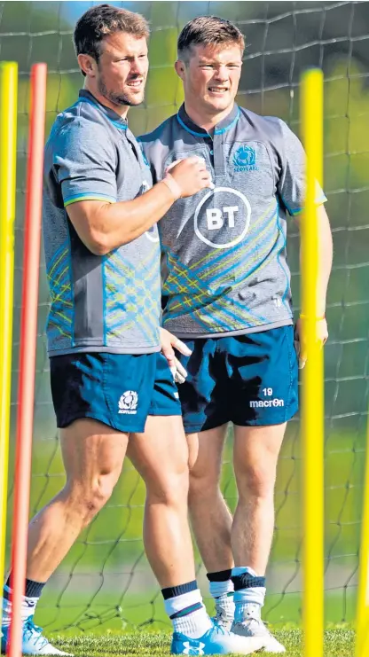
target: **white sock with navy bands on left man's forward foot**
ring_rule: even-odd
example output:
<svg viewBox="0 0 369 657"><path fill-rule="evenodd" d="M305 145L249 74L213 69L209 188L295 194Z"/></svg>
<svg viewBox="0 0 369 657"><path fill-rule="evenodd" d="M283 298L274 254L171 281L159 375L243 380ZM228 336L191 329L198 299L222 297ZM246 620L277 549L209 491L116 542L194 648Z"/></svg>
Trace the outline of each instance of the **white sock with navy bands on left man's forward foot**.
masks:
<svg viewBox="0 0 369 657"><path fill-rule="evenodd" d="M185 609L199 603L201 604L200 608L190 612L190 614L176 616L175 618L172 617L173 614L183 612ZM189 591L188 593L183 593L182 595L176 596L175 598L164 600L164 606L165 611L173 623L173 630L175 632L185 634L186 637L200 638L203 634L205 634L205 632L213 627L212 622L208 617L207 610L202 604L202 598L199 589L196 589L195 591Z"/></svg>

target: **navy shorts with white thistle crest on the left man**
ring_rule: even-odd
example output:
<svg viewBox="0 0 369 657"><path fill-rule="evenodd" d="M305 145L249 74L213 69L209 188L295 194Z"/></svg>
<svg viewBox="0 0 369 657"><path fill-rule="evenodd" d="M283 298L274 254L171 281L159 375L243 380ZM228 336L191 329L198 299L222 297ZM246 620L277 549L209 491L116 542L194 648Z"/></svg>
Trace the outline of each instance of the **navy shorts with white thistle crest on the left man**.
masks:
<svg viewBox="0 0 369 657"><path fill-rule="evenodd" d="M124 433L145 430L148 415L181 415L177 386L161 353L77 353L50 359L59 428L93 418Z"/></svg>

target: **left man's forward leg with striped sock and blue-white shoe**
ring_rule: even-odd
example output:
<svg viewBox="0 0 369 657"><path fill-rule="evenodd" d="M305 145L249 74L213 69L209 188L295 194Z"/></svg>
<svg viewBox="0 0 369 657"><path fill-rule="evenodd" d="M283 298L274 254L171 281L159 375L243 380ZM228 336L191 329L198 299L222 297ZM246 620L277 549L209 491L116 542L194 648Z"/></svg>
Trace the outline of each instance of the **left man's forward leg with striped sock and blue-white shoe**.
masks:
<svg viewBox="0 0 369 657"><path fill-rule="evenodd" d="M176 591L180 584L192 583L195 579L187 520L188 447L182 418L149 417L145 434L130 436L127 453L145 480L145 550L161 589L170 591L165 605L174 630L179 632L174 638L179 644L179 652L186 654L189 649L192 652L186 638L188 636L192 639L207 637L200 641L204 640L207 644L210 641L207 647L211 647L212 653L224 653L226 648L227 653L248 654L261 648L263 641L259 638L234 637L213 626L201 605L198 589L189 591L186 596L178 589ZM200 608L191 610L193 604L200 605ZM178 605L184 605L181 611L187 609L188 614L177 617L180 611ZM181 634L185 634L185 643L180 638ZM205 645L194 645L193 653L203 653Z"/></svg>

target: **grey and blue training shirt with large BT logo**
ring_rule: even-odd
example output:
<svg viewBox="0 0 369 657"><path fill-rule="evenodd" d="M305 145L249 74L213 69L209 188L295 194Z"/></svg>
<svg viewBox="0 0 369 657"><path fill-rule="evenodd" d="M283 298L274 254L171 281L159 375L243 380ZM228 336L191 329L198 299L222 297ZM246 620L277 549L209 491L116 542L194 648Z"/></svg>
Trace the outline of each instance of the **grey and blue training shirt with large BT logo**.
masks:
<svg viewBox="0 0 369 657"><path fill-rule="evenodd" d="M292 324L287 214L302 210L305 157L287 124L234 106L210 136L182 106L139 140L154 182L199 155L216 185L159 223L165 328L190 339Z"/></svg>

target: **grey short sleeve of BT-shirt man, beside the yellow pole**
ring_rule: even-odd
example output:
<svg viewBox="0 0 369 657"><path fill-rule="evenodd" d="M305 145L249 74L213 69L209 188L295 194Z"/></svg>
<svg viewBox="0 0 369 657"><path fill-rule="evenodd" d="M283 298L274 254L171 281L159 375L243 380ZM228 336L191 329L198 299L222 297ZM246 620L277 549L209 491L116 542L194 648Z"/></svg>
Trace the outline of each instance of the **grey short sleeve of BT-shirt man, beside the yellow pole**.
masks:
<svg viewBox="0 0 369 657"><path fill-rule="evenodd" d="M280 121L283 139L283 153L280 153L282 169L277 185L279 198L289 215L302 212L305 203L305 152L302 143L284 121ZM326 202L326 196L320 185L316 184L316 203Z"/></svg>

